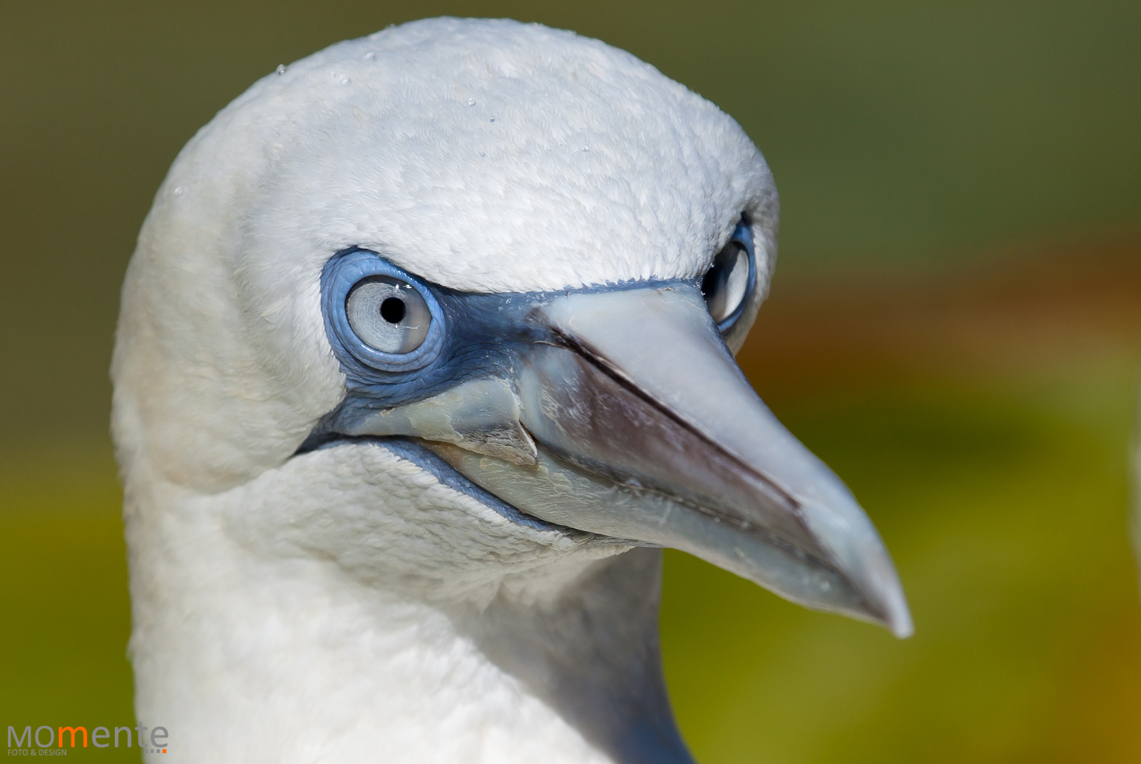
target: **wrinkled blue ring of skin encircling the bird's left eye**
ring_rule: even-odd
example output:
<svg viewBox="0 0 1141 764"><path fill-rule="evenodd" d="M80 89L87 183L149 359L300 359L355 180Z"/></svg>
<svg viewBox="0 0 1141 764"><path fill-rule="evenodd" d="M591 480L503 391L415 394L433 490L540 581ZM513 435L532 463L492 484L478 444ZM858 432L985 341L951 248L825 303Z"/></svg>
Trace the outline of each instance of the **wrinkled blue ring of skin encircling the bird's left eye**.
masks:
<svg viewBox="0 0 1141 764"><path fill-rule="evenodd" d="M369 346L349 324L346 304L349 292L362 281L387 276L408 284L423 299L431 314L428 335L419 347L407 353L386 353ZM419 279L396 267L380 255L367 249L349 249L334 255L321 273L321 311L325 332L333 341L333 351L348 353L354 360L378 371L408 372L423 369L435 361L444 347L445 319L436 296ZM345 362L345 359L340 359Z"/></svg>

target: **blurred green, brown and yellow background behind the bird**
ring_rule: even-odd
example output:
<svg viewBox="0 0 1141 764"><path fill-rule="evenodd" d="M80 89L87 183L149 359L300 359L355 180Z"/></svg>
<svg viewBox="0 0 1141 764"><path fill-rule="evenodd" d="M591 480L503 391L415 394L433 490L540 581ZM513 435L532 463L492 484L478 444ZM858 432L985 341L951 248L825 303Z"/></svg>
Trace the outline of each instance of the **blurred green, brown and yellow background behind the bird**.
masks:
<svg viewBox="0 0 1141 764"><path fill-rule="evenodd" d="M671 554L697 758L1141 761L1135 0L0 3L0 730L132 718L106 368L176 152L277 64L444 14L631 50L780 187L742 365L881 529L916 635Z"/></svg>

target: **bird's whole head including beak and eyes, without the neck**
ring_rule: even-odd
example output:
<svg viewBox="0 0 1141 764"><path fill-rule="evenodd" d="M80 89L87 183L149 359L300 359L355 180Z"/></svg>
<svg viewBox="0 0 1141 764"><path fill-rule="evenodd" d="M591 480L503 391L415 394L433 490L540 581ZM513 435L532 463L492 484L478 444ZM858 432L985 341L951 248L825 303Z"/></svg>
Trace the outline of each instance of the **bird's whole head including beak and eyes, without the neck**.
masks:
<svg viewBox="0 0 1141 764"><path fill-rule="evenodd" d="M430 19L257 82L179 154L123 288L140 706L207 714L146 674L249 638L193 614L243 554L454 613L674 547L907 635L871 522L733 360L777 216L731 118L569 32Z"/></svg>

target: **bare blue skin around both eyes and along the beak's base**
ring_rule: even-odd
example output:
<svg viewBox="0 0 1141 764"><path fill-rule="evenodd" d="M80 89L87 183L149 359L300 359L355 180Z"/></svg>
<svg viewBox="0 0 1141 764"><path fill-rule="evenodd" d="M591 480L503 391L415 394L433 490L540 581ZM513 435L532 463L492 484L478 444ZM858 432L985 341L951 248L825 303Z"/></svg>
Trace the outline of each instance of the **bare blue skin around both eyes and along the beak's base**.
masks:
<svg viewBox="0 0 1141 764"><path fill-rule="evenodd" d="M741 319L756 287L756 258L748 227L738 224L733 242L744 246L747 252L748 280L739 304L717 324L722 335ZM428 306L431 323L427 337L408 353L385 353L370 347L349 324L346 313L349 293L361 281L375 276L407 283ZM542 292L462 292L414 276L371 250L350 248L338 252L322 272L322 313L333 353L347 377L348 394L301 450L316 448L371 411L431 397L471 379L510 378L518 371L520 353L528 347L536 343L561 344L545 323L534 319L535 309L556 297L699 283L701 278Z"/></svg>

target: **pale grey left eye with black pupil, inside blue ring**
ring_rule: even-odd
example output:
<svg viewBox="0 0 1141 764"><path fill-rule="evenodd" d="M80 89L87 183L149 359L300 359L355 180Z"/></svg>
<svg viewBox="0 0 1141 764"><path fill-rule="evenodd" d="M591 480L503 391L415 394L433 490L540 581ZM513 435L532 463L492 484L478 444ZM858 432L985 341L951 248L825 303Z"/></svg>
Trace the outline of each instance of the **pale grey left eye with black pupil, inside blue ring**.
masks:
<svg viewBox="0 0 1141 764"><path fill-rule="evenodd" d="M345 300L349 327L381 353L411 353L428 337L431 311L411 284L391 276L358 281Z"/></svg>

